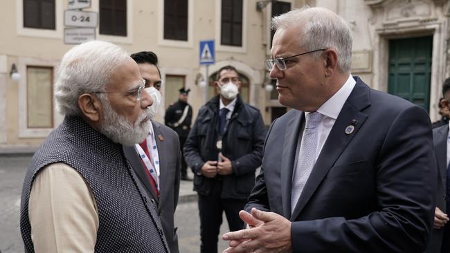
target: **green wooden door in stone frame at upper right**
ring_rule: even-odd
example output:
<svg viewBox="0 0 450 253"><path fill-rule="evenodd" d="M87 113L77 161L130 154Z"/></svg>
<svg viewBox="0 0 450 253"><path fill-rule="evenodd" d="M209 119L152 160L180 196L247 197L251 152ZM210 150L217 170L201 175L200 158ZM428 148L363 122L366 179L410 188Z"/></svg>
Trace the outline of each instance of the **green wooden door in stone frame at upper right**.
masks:
<svg viewBox="0 0 450 253"><path fill-rule="evenodd" d="M429 111L433 37L389 41L388 93Z"/></svg>

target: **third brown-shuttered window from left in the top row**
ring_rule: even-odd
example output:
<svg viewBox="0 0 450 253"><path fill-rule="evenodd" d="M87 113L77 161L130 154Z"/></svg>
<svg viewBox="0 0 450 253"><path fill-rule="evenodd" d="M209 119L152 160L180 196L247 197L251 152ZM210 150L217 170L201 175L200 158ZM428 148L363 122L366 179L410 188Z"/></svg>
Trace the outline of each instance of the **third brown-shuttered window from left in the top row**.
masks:
<svg viewBox="0 0 450 253"><path fill-rule="evenodd" d="M164 39L188 41L188 0L164 0Z"/></svg>

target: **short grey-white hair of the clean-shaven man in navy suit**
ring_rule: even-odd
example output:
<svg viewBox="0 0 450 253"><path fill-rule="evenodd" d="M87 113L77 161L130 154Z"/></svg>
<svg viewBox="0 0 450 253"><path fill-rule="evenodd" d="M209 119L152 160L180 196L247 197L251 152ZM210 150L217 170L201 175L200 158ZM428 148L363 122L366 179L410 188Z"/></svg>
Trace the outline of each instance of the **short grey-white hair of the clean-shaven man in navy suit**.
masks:
<svg viewBox="0 0 450 253"><path fill-rule="evenodd" d="M298 27L300 45L305 50L333 48L338 54L338 68L350 73L352 65L352 34L347 22L336 13L325 8L291 10L273 17L271 29Z"/></svg>

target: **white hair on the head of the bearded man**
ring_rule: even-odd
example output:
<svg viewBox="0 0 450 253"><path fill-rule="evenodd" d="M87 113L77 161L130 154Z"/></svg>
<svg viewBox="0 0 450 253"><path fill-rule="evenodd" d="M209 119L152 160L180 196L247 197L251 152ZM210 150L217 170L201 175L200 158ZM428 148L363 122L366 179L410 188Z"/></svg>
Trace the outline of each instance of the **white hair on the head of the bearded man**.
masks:
<svg viewBox="0 0 450 253"><path fill-rule="evenodd" d="M114 69L129 54L106 41L89 41L74 46L62 57L55 82L55 102L62 115L80 115L78 97L105 91Z"/></svg>

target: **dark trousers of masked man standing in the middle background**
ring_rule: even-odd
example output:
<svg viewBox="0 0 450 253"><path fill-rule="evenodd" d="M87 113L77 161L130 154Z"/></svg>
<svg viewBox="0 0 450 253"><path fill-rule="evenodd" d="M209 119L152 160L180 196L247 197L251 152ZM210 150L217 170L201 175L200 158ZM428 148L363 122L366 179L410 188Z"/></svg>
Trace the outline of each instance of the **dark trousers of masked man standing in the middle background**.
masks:
<svg viewBox="0 0 450 253"><path fill-rule="evenodd" d="M230 231L237 231L244 227L244 222L239 217L239 211L244 209L247 201L220 198L221 193L222 181L217 180L211 182L209 196L199 194L201 253L217 252L217 241L224 211Z"/></svg>

